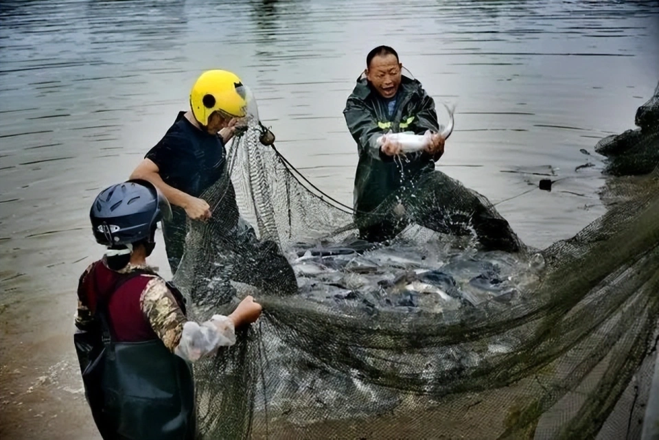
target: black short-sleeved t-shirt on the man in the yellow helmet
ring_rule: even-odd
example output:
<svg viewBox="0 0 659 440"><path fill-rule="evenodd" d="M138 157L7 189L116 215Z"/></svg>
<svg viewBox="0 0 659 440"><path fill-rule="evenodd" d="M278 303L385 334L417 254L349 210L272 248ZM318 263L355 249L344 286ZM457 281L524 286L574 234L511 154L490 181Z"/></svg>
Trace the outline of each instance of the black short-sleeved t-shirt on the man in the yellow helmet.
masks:
<svg viewBox="0 0 659 440"><path fill-rule="evenodd" d="M224 170L226 150L219 136L209 135L178 113L176 121L146 159L158 165L163 181L193 197L216 183Z"/></svg>

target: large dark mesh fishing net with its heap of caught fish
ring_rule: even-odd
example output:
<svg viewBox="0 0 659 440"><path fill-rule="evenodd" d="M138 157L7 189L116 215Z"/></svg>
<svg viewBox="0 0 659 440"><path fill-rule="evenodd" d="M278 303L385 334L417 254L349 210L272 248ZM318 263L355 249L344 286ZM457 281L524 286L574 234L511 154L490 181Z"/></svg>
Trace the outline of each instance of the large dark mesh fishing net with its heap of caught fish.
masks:
<svg viewBox="0 0 659 440"><path fill-rule="evenodd" d="M200 437L640 438L658 340L658 102L659 89L638 132L601 149L626 175L603 190L608 213L544 250L439 172L355 215L250 124L174 277L191 319L245 294L264 305L194 366ZM395 238L359 238L378 222Z"/></svg>

